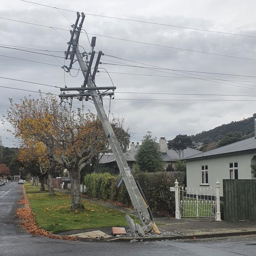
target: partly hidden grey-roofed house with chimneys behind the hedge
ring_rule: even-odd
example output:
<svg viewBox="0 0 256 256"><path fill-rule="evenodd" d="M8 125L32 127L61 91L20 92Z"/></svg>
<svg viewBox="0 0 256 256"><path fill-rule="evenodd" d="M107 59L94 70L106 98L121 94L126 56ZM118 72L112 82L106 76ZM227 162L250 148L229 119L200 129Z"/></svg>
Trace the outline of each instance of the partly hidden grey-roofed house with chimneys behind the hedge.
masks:
<svg viewBox="0 0 256 256"><path fill-rule="evenodd" d="M161 155L163 157L163 161L165 163L165 168L169 164L175 163L180 159L180 156L178 153L176 153L174 150L168 149L165 137L160 138L159 148L160 148ZM139 149L139 142L137 142L136 145L134 142L132 142L130 145L130 150L124 153L124 156L126 158L126 161L130 169L133 169L134 164L136 163L135 156L137 154L138 149ZM193 148L187 148L183 150L183 152L181 153L181 157L185 158L185 157L193 156L199 153L202 153L202 151L195 150ZM98 167L102 169L108 167L108 168L114 169L115 173L119 174L119 169L117 167L115 156L113 154L100 155Z"/></svg>

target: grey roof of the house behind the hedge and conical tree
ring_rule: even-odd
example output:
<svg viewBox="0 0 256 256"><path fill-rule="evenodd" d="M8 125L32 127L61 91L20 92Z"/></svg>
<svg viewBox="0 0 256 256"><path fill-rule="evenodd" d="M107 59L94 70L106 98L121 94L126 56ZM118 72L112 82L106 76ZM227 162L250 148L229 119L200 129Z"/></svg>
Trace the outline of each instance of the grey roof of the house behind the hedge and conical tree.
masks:
<svg viewBox="0 0 256 256"><path fill-rule="evenodd" d="M126 161L132 161L135 162L135 155L137 154L138 151L138 147L134 148L132 150L127 151L126 153L124 153L124 156L126 158ZM202 151L199 150L195 150L193 148L187 148L185 150L183 150L183 157L188 157L188 156L192 156L195 154L199 154ZM173 161L177 161L180 159L180 156L178 153L176 153L174 150L167 150L167 153L161 153L163 156L163 160L165 162L173 162ZM182 157L182 153L181 153L181 157ZM115 156L113 155L103 155L102 158L99 161L99 164L104 164L104 163L111 163L115 161Z"/></svg>

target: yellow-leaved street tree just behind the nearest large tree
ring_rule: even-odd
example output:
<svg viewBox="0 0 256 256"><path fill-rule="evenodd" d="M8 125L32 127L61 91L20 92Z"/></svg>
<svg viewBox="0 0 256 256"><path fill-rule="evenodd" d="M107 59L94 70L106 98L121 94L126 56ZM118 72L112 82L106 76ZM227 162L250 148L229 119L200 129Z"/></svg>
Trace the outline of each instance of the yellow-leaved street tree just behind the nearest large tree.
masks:
<svg viewBox="0 0 256 256"><path fill-rule="evenodd" d="M7 120L13 126L13 135L20 139L22 145L27 148L34 141L41 142L46 147L46 155L49 161L48 192L54 195L53 175L55 165L50 161L51 154L54 154L61 143L61 134L52 127L54 119L58 119L61 105L55 96L49 94L45 98L28 99L24 98L20 104L10 99L10 107L7 111Z"/></svg>

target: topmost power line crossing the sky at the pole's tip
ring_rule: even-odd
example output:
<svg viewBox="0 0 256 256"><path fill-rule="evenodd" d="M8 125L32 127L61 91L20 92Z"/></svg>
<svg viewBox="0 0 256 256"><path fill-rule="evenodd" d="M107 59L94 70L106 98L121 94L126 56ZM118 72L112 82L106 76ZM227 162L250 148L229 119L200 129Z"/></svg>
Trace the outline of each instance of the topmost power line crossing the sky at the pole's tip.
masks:
<svg viewBox="0 0 256 256"><path fill-rule="evenodd" d="M22 2L28 2L30 4L38 4L38 3L35 3L35 2L30 2L30 1L25 1L25 0L21 0L21 1ZM63 10L63 11L69 11L69 12L72 12L72 13L76 13L76 11L71 11L71 10L67 10L67 9L61 9L61 8L53 7L53 6L50 6L50 5L45 5L45 4L38 4L38 5L41 5L41 6L44 6L44 7L54 8L54 9L57 9L57 10ZM184 27L184 26L176 26L176 25L171 25L171 24L147 22L147 21L143 21L143 20L132 20L132 19L113 17L113 16L105 16L105 15L98 15L98 14L92 14L92 13L85 13L85 14L86 15L90 15L90 16L104 17L104 18L110 18L110 19L116 19L116 20L126 20L126 21L131 21L131 22L140 22L140 23L146 23L146 24L152 24L152 25L161 25L161 26L169 26L169 27L174 27L174 28L185 28L185 29L199 30L199 31L219 33L219 34L226 34L226 35L236 35L236 36L241 36L241 37L253 37L253 38L256 38L256 36L236 34L236 33L227 33L227 32L221 32L221 31L217 31L217 30L207 30L207 29L201 29L201 28L191 28L191 27Z"/></svg>

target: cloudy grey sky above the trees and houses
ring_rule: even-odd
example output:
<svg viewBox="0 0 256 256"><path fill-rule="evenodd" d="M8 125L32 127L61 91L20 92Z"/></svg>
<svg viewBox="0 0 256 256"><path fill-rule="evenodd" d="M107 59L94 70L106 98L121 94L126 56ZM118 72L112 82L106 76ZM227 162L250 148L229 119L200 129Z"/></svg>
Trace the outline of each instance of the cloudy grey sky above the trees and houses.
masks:
<svg viewBox="0 0 256 256"><path fill-rule="evenodd" d="M256 101L250 101L256 100L256 77L249 77L256 76L255 1L98 0L95 2L84 0L35 0L35 2L88 13L85 15L83 29L87 31L89 41L95 34L107 36L97 36L95 51L102 50L105 54L105 56L102 56L100 67L109 72L113 84L117 87L115 98L111 100L111 113L115 116L125 117L126 126L134 134L131 141L141 141L148 130L157 139L165 137L169 140L178 134L192 135L213 129L221 124L228 124L231 121L239 121L243 118L251 117L253 113L256 113ZM89 14L173 26L117 20ZM0 19L0 46L23 47L20 49L24 50L28 50L25 48L54 50L57 52L49 53L30 49L30 51L61 57L54 58L53 56L0 47L0 77L58 87L64 87L65 84L67 87L80 87L83 82L83 76L81 72L78 72L76 76L78 63L75 63L74 69L71 70L72 76L67 73L64 76L63 69L61 69L64 64L64 51L67 50L67 41L70 39L70 33L67 30L71 29L70 26L76 20L75 12L58 11L58 9L20 0L1 0L0 17L64 29L54 30ZM251 37L174 26L215 30L249 35ZM108 37L145 42L158 46ZM90 45L86 33L81 34L79 41L80 46L89 52ZM237 56L245 59L216 54ZM13 59L6 56L50 63L52 65ZM67 64L69 64L68 61L65 62L65 65ZM150 70L141 68L150 67L148 65L165 69ZM104 69L100 69L101 72L97 74L95 78L96 84L97 86L112 86L112 82ZM182 71L182 73L168 69L185 71ZM193 71L239 76L195 73ZM4 78L0 78L0 86L33 91L41 90L42 92L51 92L56 95L60 93L59 88ZM153 94L134 94L134 92ZM167 93L221 94L221 96L171 95ZM15 102L20 102L24 97L39 97L38 93L3 87L0 87L0 95L2 95L0 115L3 120L9 107L9 98L12 98ZM109 98L104 98L103 103L105 111L108 112ZM74 99L73 107L81 106L82 103ZM96 113L95 107L91 102L85 103L85 109L90 109ZM15 142L17 140L9 134L7 129L9 129L7 124L0 124L0 136L2 136L3 145L17 145Z"/></svg>

